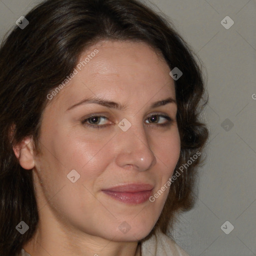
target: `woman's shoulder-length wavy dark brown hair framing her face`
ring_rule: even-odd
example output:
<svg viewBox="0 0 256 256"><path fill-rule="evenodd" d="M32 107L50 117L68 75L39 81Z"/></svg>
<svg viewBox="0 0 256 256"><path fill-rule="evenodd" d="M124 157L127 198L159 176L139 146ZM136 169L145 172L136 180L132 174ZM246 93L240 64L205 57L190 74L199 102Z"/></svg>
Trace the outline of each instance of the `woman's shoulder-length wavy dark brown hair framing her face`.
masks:
<svg viewBox="0 0 256 256"><path fill-rule="evenodd" d="M31 136L39 153L46 95L71 73L82 51L101 39L143 41L159 50L175 80L181 140L177 168L201 151L208 136L198 120L204 95L201 67L170 22L136 0L47 0L31 10L29 24L16 26L0 47L0 255L19 253L34 234L38 212L32 172L18 162L13 145ZM175 213L193 205L198 157L171 184L159 227L166 233ZM29 229L15 229L23 220ZM149 235L150 235L149 234Z"/></svg>

